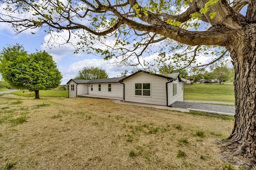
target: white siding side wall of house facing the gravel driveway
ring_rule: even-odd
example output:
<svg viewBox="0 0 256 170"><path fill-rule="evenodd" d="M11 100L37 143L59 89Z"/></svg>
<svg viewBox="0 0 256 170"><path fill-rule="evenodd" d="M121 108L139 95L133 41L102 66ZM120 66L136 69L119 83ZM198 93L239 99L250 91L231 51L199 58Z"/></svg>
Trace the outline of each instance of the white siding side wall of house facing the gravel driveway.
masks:
<svg viewBox="0 0 256 170"><path fill-rule="evenodd" d="M173 84L177 84L177 94L173 96ZM176 101L184 102L184 85L178 80L174 80L172 83L168 84L168 105L173 104Z"/></svg>

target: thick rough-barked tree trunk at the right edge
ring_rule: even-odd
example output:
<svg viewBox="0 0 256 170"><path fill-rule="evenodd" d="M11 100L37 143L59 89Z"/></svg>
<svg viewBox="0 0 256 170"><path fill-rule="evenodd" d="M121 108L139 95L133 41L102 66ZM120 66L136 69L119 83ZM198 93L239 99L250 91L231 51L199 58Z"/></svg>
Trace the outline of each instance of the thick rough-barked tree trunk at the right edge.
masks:
<svg viewBox="0 0 256 170"><path fill-rule="evenodd" d="M233 162L242 168L256 164L256 24L253 25L248 26L244 32L248 34L230 51L235 72L236 115L232 134L222 148L226 153L221 157L233 157Z"/></svg>

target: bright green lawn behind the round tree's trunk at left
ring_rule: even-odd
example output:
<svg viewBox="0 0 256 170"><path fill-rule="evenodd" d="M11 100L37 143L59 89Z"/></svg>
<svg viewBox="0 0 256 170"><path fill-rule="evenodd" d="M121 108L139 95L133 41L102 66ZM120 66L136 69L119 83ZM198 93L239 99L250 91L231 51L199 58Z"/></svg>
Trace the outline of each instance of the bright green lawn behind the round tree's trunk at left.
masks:
<svg viewBox="0 0 256 170"><path fill-rule="evenodd" d="M12 92L10 94L16 94L18 96L24 97L34 97L34 92L28 92L27 90L18 90L16 92ZM39 91L40 98L46 97L68 97L68 90L40 90Z"/></svg>

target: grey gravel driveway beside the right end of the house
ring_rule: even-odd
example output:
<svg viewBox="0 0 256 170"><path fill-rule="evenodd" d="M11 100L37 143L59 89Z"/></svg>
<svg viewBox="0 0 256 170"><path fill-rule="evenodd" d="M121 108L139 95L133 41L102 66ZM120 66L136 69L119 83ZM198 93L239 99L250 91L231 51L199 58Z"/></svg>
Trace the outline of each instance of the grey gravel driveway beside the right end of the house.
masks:
<svg viewBox="0 0 256 170"><path fill-rule="evenodd" d="M190 103L190 102L174 102L174 104L172 104L172 107L182 108L182 109L190 108L190 109L199 109L199 110L206 110L206 111L235 114L235 107L233 106L221 106L221 105L214 105L214 104L200 104L200 103Z"/></svg>

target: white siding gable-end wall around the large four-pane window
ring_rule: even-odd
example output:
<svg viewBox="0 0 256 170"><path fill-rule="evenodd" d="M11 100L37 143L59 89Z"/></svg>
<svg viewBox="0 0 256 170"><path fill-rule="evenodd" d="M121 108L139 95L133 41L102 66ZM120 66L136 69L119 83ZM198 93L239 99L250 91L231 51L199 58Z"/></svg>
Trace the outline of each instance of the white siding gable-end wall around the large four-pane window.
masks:
<svg viewBox="0 0 256 170"><path fill-rule="evenodd" d="M125 101L166 106L166 78L147 73L139 73L124 80ZM150 83L150 96L135 95L136 83Z"/></svg>

